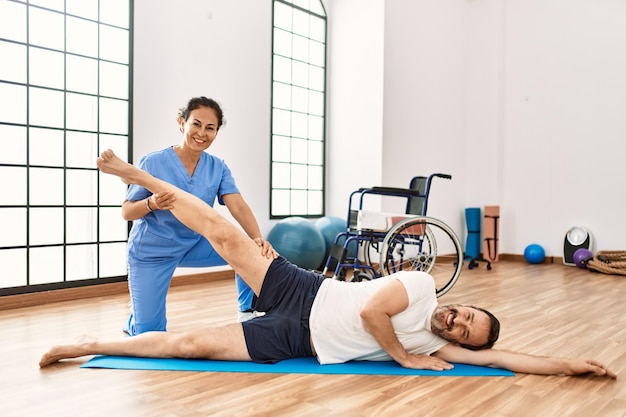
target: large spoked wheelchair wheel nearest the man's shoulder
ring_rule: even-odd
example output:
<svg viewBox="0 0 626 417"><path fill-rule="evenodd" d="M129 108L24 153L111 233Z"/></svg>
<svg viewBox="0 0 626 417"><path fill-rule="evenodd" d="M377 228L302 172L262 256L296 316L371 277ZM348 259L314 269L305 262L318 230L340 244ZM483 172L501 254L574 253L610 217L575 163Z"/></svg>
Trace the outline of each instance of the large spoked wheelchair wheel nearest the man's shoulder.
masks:
<svg viewBox="0 0 626 417"><path fill-rule="evenodd" d="M380 272L427 272L441 297L461 274L462 254L459 238L450 226L432 217L410 217L387 232L380 248Z"/></svg>

